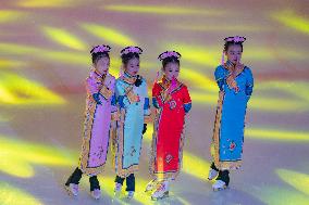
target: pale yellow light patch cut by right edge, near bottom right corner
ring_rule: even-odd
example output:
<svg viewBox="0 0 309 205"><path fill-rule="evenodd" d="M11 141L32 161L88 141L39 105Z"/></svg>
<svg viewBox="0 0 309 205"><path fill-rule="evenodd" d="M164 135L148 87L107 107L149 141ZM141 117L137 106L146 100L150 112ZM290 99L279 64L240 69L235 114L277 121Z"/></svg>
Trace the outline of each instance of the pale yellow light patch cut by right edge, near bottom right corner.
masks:
<svg viewBox="0 0 309 205"><path fill-rule="evenodd" d="M275 172L283 181L309 196L309 175L287 169L276 169Z"/></svg>

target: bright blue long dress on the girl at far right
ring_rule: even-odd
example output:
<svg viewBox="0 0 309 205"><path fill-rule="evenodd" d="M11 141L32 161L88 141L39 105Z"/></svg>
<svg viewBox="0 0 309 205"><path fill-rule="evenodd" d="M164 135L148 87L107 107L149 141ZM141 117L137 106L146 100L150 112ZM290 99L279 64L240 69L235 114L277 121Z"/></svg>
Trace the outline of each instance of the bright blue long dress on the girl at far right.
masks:
<svg viewBox="0 0 309 205"><path fill-rule="evenodd" d="M227 61L214 72L220 92L211 155L220 170L237 169L242 165L246 108L254 88L249 67L237 66L236 75L232 75L232 68L233 64Z"/></svg>

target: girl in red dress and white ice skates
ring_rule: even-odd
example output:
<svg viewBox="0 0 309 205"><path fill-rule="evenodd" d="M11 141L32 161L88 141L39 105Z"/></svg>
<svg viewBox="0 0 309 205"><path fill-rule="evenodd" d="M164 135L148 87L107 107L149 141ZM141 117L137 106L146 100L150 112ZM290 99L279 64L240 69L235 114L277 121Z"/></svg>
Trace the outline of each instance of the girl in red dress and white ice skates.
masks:
<svg viewBox="0 0 309 205"><path fill-rule="evenodd" d="M157 108L150 158L153 180L146 188L146 191L156 189L152 200L169 196L169 183L181 170L185 115L191 108L191 100L187 87L177 80L180 57L175 51L159 55L164 75L152 88L152 103Z"/></svg>

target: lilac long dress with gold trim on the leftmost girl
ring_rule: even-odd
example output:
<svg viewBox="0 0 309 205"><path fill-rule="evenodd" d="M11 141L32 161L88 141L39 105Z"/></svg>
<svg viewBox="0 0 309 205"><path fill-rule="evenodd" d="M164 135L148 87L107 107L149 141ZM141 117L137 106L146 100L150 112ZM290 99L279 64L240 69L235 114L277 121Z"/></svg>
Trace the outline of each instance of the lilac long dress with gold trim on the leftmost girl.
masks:
<svg viewBox="0 0 309 205"><path fill-rule="evenodd" d="M86 79L87 99L84 120L79 169L95 176L103 170L107 161L110 125L116 112L114 95L115 78L92 71ZM97 104L94 93L100 93L101 104Z"/></svg>

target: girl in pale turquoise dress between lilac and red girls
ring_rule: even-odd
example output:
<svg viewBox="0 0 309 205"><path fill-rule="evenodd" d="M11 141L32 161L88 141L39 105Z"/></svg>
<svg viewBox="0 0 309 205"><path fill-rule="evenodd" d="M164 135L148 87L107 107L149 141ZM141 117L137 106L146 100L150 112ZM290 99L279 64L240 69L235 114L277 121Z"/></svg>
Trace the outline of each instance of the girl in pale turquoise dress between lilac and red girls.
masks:
<svg viewBox="0 0 309 205"><path fill-rule="evenodd" d="M141 138L150 119L149 98L146 80L138 75L138 47L127 47L121 51L123 75L116 79L116 99L120 108L116 138L113 141L115 165L115 195L119 195L126 179L127 198L135 192L135 176L138 170Z"/></svg>

